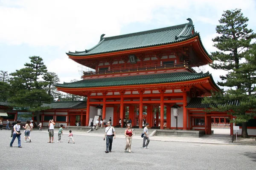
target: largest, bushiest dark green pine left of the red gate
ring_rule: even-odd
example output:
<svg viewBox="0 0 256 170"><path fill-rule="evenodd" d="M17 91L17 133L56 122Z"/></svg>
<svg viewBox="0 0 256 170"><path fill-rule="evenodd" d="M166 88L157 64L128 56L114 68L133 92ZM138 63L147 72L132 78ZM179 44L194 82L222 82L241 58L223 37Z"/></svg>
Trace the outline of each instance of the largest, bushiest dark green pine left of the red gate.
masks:
<svg viewBox="0 0 256 170"><path fill-rule="evenodd" d="M42 107L43 103L51 103L53 98L47 93L49 74L43 59L38 56L29 57L30 63L24 64L25 68L11 73L11 96L9 102L15 107L27 107L28 111L36 112L49 109ZM42 79L42 80L41 80Z"/></svg>

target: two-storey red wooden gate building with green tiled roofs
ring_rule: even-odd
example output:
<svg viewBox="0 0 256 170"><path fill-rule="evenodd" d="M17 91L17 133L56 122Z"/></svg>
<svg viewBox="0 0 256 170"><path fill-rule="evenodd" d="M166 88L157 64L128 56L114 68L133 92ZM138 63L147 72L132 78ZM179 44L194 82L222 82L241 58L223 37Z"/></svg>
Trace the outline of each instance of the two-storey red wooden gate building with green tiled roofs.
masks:
<svg viewBox="0 0 256 170"><path fill-rule="evenodd" d="M64 82L56 87L59 91L87 96L86 125L96 114L91 111L96 106L102 107L102 119L112 117L114 125L125 118L128 107L133 125L137 123L136 110L139 110L142 128L143 106L146 106L147 122L152 126L153 110L160 106L160 128L163 129L166 106L166 127L176 128L171 108L178 105L178 128L191 129L193 120L186 108L188 102L221 89L211 74L193 69L212 63L212 59L192 20L187 20L188 23L177 26L114 37L102 34L94 47L67 53L70 59L92 71L84 71L81 81Z"/></svg>

